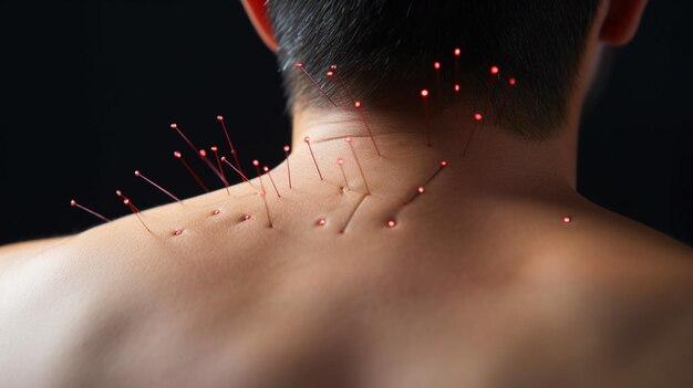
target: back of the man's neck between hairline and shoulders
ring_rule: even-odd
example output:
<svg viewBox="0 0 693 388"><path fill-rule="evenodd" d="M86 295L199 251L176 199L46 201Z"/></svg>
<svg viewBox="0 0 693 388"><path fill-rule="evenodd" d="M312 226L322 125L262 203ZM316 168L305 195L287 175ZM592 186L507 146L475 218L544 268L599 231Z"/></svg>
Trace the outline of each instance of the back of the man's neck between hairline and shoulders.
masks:
<svg viewBox="0 0 693 388"><path fill-rule="evenodd" d="M372 187L395 180L420 181L432 166L446 160L459 167L446 174L457 175L456 181L485 192L536 197L575 191L577 120L557 130L550 139L538 141L523 138L494 120L475 122L472 114L432 113L428 124L424 117L368 109L364 114L372 138L356 109L297 109L294 155L310 158L302 150L307 148L304 137L308 136L318 162L337 166L338 158L346 161L352 158L343 140L352 137ZM339 174L333 166L331 168Z"/></svg>

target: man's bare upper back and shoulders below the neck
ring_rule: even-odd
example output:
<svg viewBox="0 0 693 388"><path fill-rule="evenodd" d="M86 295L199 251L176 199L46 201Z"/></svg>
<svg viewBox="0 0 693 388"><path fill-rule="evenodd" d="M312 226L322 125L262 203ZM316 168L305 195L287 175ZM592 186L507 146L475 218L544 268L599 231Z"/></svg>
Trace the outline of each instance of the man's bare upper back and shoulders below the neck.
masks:
<svg viewBox="0 0 693 388"><path fill-rule="evenodd" d="M665 338L691 344L690 251L581 200L568 223L485 198L342 233L353 207L386 221L379 199L268 228L257 196L219 196L144 214L182 233L128 217L4 259L2 385L633 386L693 348Z"/></svg>

